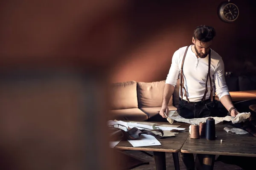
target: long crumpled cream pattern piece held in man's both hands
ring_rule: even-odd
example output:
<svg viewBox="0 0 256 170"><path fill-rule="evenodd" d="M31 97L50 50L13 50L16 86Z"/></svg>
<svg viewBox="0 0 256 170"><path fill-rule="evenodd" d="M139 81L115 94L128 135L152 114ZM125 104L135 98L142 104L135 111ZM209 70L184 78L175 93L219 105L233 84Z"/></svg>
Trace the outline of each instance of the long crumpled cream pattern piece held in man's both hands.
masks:
<svg viewBox="0 0 256 170"><path fill-rule="evenodd" d="M169 111L169 114L166 117L168 122L171 124L174 122L174 120L176 120L177 122L185 122L185 123L197 124L197 125L199 125L200 122L206 122L206 119L209 118L209 117L204 117L204 118L195 118L195 119L185 119L181 117L177 111ZM249 117L250 117L250 112L248 113L243 112L236 115L236 117L226 116L226 117L212 117L212 118L215 120L215 124L218 124L219 122L223 122L223 121L228 121L228 122L232 121L232 123L235 124L235 123L243 122L245 119Z"/></svg>

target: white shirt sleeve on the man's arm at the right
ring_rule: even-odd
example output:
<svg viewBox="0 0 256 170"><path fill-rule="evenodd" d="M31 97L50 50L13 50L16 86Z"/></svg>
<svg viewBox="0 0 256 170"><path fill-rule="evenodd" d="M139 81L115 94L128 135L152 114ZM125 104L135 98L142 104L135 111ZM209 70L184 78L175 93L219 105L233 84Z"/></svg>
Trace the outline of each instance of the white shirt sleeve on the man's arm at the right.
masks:
<svg viewBox="0 0 256 170"><path fill-rule="evenodd" d="M230 95L228 87L226 85L226 80L224 76L224 62L222 59L219 60L216 66L214 81L215 81L215 91L219 99L221 99L221 97L225 95Z"/></svg>

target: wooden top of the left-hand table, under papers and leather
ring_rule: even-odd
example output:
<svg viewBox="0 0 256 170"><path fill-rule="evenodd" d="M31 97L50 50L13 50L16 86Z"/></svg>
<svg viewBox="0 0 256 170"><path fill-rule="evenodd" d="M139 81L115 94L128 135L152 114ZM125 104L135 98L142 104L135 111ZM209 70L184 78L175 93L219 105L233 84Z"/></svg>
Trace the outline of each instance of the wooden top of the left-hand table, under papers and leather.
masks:
<svg viewBox="0 0 256 170"><path fill-rule="evenodd" d="M169 122L154 122L159 125L169 125ZM189 129L189 124L186 123L173 123L172 125L180 125L181 128ZM157 139L161 145L159 146L144 146L133 147L127 140L119 142L115 146L117 149L124 150L144 150L144 151L157 151L157 152L180 152L181 147L189 136L189 132L179 132L175 136Z"/></svg>

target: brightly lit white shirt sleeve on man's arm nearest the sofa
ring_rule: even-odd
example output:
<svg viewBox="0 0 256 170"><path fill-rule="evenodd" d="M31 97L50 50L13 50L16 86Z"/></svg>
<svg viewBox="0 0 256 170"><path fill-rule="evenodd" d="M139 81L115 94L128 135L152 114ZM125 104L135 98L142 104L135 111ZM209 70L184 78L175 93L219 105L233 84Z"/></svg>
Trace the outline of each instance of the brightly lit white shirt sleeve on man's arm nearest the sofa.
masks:
<svg viewBox="0 0 256 170"><path fill-rule="evenodd" d="M175 85L177 84L177 79L180 75L180 68L179 68L179 50L175 51L175 53L172 56L172 64L169 70L169 73L166 77L166 84Z"/></svg>

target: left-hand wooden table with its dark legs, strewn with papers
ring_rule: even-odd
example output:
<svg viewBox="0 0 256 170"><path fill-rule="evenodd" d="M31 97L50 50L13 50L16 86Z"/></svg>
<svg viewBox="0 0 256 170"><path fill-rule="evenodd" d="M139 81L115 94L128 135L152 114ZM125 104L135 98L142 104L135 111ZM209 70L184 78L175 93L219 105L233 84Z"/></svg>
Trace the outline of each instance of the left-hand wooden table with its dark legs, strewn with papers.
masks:
<svg viewBox="0 0 256 170"><path fill-rule="evenodd" d="M157 124L168 125L168 122L154 122ZM180 125L181 128L189 129L189 124L186 123L173 123L173 125ZM175 170L180 169L178 153L181 147L189 136L189 132L179 132L172 137L157 139L162 145L160 146L146 146L146 147L133 147L128 141L121 141L114 148L121 150L142 150L153 151L154 160L157 170L166 170L166 152L172 152Z"/></svg>

